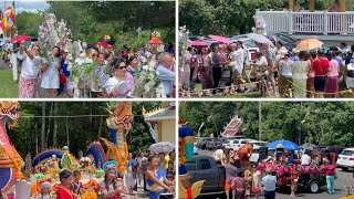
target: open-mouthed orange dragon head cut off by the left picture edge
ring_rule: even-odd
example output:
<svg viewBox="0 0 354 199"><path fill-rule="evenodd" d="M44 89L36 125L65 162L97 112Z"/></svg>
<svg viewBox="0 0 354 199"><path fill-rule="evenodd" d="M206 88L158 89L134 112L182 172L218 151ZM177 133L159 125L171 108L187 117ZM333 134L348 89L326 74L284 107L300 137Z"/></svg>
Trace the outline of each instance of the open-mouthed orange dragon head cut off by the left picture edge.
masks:
<svg viewBox="0 0 354 199"><path fill-rule="evenodd" d="M0 119L2 121L12 121L9 125L10 128L13 128L19 119L18 109L20 107L19 102L12 101L1 101L0 102Z"/></svg>

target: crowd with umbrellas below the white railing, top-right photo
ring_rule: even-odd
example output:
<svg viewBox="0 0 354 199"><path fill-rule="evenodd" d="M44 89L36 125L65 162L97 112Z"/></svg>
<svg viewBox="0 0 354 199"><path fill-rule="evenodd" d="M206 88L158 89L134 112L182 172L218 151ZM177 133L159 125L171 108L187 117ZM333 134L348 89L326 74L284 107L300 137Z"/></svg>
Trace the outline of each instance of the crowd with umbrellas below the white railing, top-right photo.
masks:
<svg viewBox="0 0 354 199"><path fill-rule="evenodd" d="M197 92L200 81L201 90L209 91L209 95L247 92L250 86L246 83L260 82L264 82L269 95L279 97L341 97L341 91L354 91L354 45L341 42L330 49L289 51L281 41L271 41L258 43L253 60L240 41L212 48L189 46L183 59L180 90ZM230 72L230 81L222 76L225 72Z"/></svg>

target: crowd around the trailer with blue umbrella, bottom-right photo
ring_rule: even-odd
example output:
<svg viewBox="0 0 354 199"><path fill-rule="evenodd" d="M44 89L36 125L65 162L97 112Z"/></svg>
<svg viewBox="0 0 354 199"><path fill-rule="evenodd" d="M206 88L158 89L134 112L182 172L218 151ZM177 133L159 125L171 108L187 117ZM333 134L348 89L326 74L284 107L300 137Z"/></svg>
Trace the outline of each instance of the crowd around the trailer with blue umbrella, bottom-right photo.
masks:
<svg viewBox="0 0 354 199"><path fill-rule="evenodd" d="M320 150L287 150L281 145L277 146L275 153L271 157L260 157L258 163L250 164L249 158L252 154L253 144L246 144L239 150L218 148L212 157L226 169L225 190L227 198L243 199L259 198L263 190L266 199L275 198L275 187L291 187L291 196L296 197L299 184L304 185L317 174L309 174L299 170L299 166L321 167L322 175L325 175L327 193L334 193L334 180L336 177L335 163L336 156L329 150L321 154ZM244 156L246 155L246 156ZM289 172L280 171L280 167L289 168ZM283 167L283 168L284 168ZM278 170L277 170L277 169Z"/></svg>

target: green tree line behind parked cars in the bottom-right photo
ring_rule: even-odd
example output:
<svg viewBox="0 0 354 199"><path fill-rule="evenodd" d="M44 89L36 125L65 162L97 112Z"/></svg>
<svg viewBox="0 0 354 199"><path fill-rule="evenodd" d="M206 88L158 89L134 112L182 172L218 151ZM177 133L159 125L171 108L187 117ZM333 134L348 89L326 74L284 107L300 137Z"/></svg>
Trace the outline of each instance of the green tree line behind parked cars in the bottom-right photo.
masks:
<svg viewBox="0 0 354 199"><path fill-rule="evenodd" d="M350 102L186 102L179 109L179 117L196 134L205 123L202 137L220 136L231 117L239 115L248 138L354 146L354 103Z"/></svg>

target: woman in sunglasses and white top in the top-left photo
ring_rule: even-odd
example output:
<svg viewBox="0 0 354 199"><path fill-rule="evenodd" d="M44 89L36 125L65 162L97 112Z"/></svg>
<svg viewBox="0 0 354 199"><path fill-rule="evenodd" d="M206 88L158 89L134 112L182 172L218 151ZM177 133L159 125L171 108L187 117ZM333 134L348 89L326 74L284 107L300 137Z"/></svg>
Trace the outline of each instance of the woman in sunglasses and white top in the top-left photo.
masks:
<svg viewBox="0 0 354 199"><path fill-rule="evenodd" d="M123 60L116 59L114 61L115 75L107 81L106 93L110 97L126 98L134 92L134 77L131 73L126 72L126 64ZM125 83L125 87L121 91L117 86Z"/></svg>

